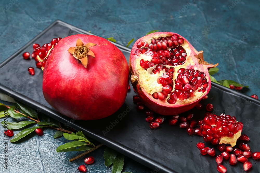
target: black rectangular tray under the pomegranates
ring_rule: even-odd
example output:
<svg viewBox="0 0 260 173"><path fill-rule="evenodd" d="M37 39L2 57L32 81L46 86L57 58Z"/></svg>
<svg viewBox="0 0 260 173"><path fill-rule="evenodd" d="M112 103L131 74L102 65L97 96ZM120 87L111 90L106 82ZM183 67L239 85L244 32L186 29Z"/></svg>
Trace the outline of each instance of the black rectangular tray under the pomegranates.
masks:
<svg viewBox="0 0 260 173"><path fill-rule="evenodd" d="M34 39L29 41L20 50L0 64L0 92L21 101L28 106L47 114L54 119L84 134L104 143L122 154L146 165L154 172L218 172L215 157L201 155L196 147L197 142L204 142L201 136L188 135L185 129L178 126L161 124L159 128L149 128L143 112L136 111L132 97L135 94L131 86L123 106L112 116L94 121L77 121L70 119L52 108L43 98L42 70L35 67L35 61L24 60L22 53L32 52L32 44L43 45L52 38L66 37L72 34L92 34L56 20ZM114 43L129 59L131 49ZM35 75L28 73L28 67L35 67ZM250 136L251 150L259 151L260 132L260 101L243 95L221 85L212 84L209 98L201 101L204 107L207 103L215 106L215 113L230 114L244 123L243 133ZM100 105L102 106L102 105ZM197 119L203 117L205 109L193 108ZM186 116L187 113L183 113ZM118 123L117 123L118 122ZM208 147L213 147L211 143ZM216 151L216 154L220 154ZM260 164L250 159L253 163L253 172L260 172ZM229 165L223 161L228 172L243 172L243 164Z"/></svg>

